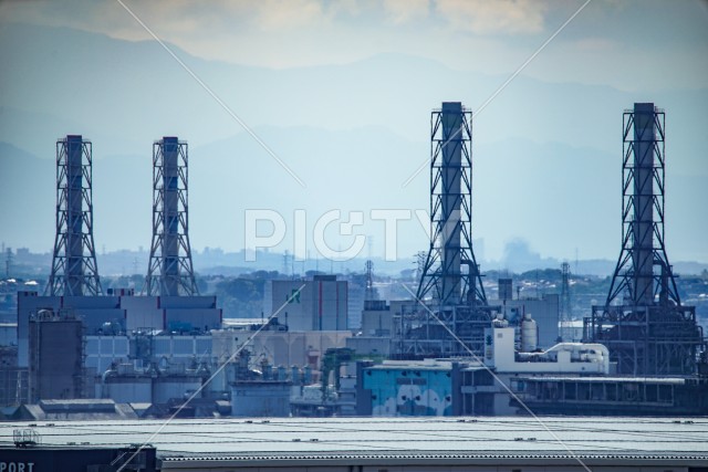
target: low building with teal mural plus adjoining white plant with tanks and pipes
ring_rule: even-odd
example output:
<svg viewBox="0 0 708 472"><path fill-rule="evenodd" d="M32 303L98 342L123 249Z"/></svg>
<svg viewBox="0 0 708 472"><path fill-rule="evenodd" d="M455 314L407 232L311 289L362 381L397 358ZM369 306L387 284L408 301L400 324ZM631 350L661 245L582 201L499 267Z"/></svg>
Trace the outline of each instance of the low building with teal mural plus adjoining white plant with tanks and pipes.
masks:
<svg viewBox="0 0 708 472"><path fill-rule="evenodd" d="M517 415L509 387L518 376L607 376L603 345L559 343L538 348L537 327L527 315L521 329L496 319L485 329L481 358L385 360L357 365L357 415Z"/></svg>

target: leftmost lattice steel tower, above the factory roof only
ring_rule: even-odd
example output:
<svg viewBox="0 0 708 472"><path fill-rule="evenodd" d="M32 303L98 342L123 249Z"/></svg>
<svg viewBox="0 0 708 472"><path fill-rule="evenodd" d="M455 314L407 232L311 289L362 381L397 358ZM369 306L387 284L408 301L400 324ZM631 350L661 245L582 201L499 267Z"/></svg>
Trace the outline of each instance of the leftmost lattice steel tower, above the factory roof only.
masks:
<svg viewBox="0 0 708 472"><path fill-rule="evenodd" d="M56 235L46 290L102 295L93 242L92 148L81 135L56 141Z"/></svg>

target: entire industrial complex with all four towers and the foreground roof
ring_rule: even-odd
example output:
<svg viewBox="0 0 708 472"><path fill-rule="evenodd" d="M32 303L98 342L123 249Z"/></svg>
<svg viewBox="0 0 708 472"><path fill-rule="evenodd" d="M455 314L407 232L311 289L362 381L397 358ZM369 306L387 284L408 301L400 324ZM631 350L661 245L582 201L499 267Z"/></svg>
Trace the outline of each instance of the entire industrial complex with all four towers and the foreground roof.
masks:
<svg viewBox="0 0 708 472"><path fill-rule="evenodd" d="M196 281L188 145L170 136L153 145L144 286L104 290L92 144L58 140L46 292L17 294L2 350L0 472L60 470L51 461L77 444L93 455L75 470L96 471L708 470L708 423L677 419L708 416L708 359L666 253L664 129L653 103L624 112L621 251L580 339L564 329L568 291L522 297L500 277L497 298L487 293L472 248L472 112L459 102L431 113L417 290L382 300L369 262L356 316L347 282L314 274L269 280L261 318L225 319ZM568 264L563 274L568 284ZM535 415L652 418L591 429ZM158 418L178 420L150 436Z"/></svg>

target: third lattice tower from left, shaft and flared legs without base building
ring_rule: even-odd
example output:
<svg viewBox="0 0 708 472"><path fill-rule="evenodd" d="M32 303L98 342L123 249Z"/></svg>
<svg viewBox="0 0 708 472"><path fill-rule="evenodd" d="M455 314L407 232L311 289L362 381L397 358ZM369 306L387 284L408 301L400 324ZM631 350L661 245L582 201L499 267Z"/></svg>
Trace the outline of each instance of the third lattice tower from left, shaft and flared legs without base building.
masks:
<svg viewBox="0 0 708 472"><path fill-rule="evenodd" d="M472 112L444 102L430 115L430 249L416 294L439 306L486 304L472 251Z"/></svg>

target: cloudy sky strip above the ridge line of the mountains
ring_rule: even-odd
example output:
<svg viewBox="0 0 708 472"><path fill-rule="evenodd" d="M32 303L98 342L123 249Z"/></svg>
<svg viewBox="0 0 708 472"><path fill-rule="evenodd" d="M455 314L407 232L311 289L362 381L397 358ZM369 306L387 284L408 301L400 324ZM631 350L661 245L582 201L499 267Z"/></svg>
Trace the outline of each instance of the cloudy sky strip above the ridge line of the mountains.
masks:
<svg viewBox="0 0 708 472"><path fill-rule="evenodd" d="M523 73L622 90L704 87L708 3L561 0L125 0L160 39L190 54L267 67L345 64L383 52L454 69L514 72L584 7ZM2 1L3 22L152 40L116 1ZM637 80L638 74L642 81Z"/></svg>

